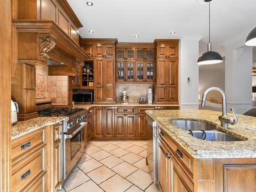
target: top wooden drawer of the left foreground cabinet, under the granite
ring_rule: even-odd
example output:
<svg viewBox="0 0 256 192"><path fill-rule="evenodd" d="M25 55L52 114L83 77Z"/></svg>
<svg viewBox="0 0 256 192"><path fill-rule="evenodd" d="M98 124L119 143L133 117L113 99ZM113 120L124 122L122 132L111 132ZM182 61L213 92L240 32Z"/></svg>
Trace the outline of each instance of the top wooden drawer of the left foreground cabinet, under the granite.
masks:
<svg viewBox="0 0 256 192"><path fill-rule="evenodd" d="M45 143L45 127L28 135L12 140L12 159L25 154L39 144Z"/></svg>

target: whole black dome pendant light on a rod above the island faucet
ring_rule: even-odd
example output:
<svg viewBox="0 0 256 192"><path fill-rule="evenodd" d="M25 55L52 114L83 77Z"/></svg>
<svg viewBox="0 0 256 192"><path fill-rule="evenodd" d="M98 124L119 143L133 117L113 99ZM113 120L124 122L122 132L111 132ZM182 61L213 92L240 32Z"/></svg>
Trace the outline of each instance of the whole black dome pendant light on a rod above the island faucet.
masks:
<svg viewBox="0 0 256 192"><path fill-rule="evenodd" d="M222 62L222 56L215 52L211 51L211 43L210 43L210 2L211 0L204 0L205 2L209 2L209 42L207 45L207 52L203 53L198 58L198 65L210 65L210 64L216 64Z"/></svg>

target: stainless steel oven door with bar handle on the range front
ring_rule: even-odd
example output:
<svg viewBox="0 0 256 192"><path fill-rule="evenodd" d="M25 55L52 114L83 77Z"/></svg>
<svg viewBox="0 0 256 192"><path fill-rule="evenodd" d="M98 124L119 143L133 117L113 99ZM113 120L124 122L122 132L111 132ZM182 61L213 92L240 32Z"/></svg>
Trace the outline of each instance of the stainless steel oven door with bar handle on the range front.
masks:
<svg viewBox="0 0 256 192"><path fill-rule="evenodd" d="M75 130L64 134L65 137L65 151L66 151L66 175L71 173L71 170L80 159L84 147L83 147L83 133L87 122L79 123L79 127ZM65 177L66 177L65 175Z"/></svg>

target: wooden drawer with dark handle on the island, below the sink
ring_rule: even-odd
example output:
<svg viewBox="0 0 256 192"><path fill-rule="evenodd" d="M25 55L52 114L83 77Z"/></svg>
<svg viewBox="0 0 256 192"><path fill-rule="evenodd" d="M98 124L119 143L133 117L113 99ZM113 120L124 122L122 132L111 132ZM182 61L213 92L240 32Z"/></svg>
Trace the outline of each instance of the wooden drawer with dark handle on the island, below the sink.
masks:
<svg viewBox="0 0 256 192"><path fill-rule="evenodd" d="M193 171L193 159L189 158L181 147L178 147L172 139L170 139L161 129L158 127L158 137L166 142L166 144L173 150L175 157L181 161L191 172Z"/></svg>

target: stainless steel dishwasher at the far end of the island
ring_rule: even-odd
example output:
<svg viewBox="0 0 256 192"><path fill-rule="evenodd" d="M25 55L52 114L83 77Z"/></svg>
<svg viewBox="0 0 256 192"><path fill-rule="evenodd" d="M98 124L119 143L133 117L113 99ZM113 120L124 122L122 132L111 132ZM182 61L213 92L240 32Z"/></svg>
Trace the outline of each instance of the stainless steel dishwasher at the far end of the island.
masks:
<svg viewBox="0 0 256 192"><path fill-rule="evenodd" d="M146 145L146 162L155 184L158 183L157 177L157 123L146 115L147 145Z"/></svg>

